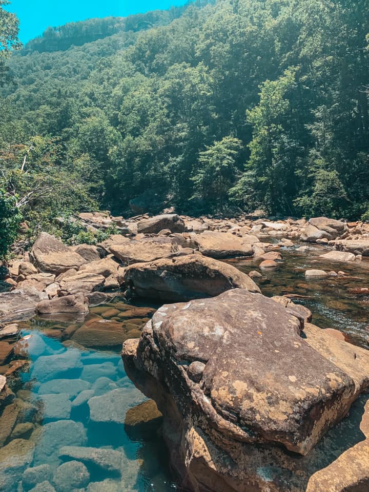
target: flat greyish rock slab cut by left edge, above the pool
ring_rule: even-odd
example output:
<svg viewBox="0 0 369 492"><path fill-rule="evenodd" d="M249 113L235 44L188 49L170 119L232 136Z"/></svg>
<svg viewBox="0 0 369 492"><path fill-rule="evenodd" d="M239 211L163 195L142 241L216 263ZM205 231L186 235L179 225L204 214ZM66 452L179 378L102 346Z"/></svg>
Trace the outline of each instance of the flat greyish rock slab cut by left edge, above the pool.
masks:
<svg viewBox="0 0 369 492"><path fill-rule="evenodd" d="M48 298L45 292L30 287L0 293L0 321L32 317L36 305Z"/></svg>

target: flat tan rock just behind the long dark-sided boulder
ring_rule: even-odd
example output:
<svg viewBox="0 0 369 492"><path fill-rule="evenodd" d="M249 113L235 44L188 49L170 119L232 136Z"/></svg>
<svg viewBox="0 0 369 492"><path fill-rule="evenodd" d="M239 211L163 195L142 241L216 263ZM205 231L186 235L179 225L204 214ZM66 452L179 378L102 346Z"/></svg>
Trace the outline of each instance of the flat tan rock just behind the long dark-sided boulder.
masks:
<svg viewBox="0 0 369 492"><path fill-rule="evenodd" d="M162 237L131 241L129 244L113 244L110 251L124 265L130 265L170 256L178 251L178 246L170 238Z"/></svg>

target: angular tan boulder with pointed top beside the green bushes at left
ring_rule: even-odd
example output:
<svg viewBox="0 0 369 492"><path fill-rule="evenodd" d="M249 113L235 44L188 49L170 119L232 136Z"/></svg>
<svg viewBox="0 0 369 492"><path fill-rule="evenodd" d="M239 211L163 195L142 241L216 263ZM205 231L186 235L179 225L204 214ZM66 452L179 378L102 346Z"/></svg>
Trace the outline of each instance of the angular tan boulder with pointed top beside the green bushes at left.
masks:
<svg viewBox="0 0 369 492"><path fill-rule="evenodd" d="M30 258L39 270L56 275L86 263L85 258L46 232L36 239Z"/></svg>

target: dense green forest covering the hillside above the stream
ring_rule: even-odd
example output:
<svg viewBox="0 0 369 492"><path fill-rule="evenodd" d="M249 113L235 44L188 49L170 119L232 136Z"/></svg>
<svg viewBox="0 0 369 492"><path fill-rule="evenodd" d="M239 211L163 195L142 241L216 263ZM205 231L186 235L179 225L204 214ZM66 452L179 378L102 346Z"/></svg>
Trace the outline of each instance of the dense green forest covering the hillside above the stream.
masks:
<svg viewBox="0 0 369 492"><path fill-rule="evenodd" d="M49 29L9 61L3 188L49 229L137 199L368 217L368 33L369 0L200 1Z"/></svg>

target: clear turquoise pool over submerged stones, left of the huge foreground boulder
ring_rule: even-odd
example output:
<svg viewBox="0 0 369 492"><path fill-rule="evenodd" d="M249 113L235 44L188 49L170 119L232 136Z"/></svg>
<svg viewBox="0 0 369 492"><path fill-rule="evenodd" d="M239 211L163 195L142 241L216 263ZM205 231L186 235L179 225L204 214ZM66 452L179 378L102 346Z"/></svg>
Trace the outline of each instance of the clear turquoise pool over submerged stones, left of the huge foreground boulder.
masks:
<svg viewBox="0 0 369 492"><path fill-rule="evenodd" d="M116 306L119 302L121 300ZM116 319L97 317L94 313L98 311L101 314L104 307L111 309L114 305L92 309L84 325L93 319L105 319L105 326L116 322ZM127 307L116 311L124 313ZM121 453L118 455L122 459L121 477L116 471L86 462L89 483L98 482L98 488L84 483L83 487L78 487L79 492L90 489L99 492L169 492L176 488L168 469L167 451L158 434L160 421L135 427L125 425L127 409L146 401L126 376L120 357L122 340L130 338L134 333L132 330L137 333L145 324L145 318L141 323L139 318L133 320L135 327L132 329L127 322L129 329L127 333L120 333L117 345L114 345L114 339L110 339L111 346L104 346L105 330L100 330L101 346L98 349L81 344L84 339L88 341L88 332L78 341L74 335L63 341L60 332L70 326L70 321L34 318L22 323L22 358L27 355L29 365L16 377L9 378L9 385L16 396L29 405L20 423L32 422L34 425L31 437L24 436L35 443L32 466L50 465L51 477L54 475L55 478L57 467L72 459L60 459L63 446L94 447ZM98 340L92 343L98 344ZM60 471L58 473L60 475ZM65 473L68 475L68 469ZM13 470L9 474L4 480L0 473L0 490L15 492L20 477ZM68 484L68 476L65 480ZM52 478L50 482L53 483ZM59 488L62 490L63 486L59 485ZM74 488L70 486L70 490Z"/></svg>

